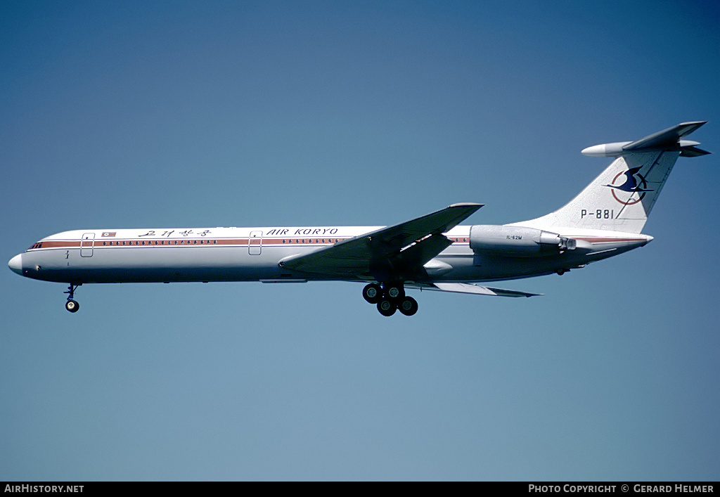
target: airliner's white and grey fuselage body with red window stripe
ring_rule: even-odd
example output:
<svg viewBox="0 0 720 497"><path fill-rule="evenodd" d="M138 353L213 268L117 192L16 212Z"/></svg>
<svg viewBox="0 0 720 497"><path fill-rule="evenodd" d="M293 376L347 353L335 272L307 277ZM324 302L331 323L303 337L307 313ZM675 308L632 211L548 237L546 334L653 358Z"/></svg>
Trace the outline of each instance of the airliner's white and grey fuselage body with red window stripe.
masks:
<svg viewBox="0 0 720 497"><path fill-rule="evenodd" d="M12 259L23 276L74 285L121 282L302 282L373 281L285 269L280 261L309 254L377 230L373 226L263 228L175 228L73 230L33 244ZM425 265L423 282L482 282L564 272L606 259L652 237L607 230L568 228L555 233L573 238L577 247L562 254L513 256L473 251L471 226L456 226L452 244Z"/></svg>

